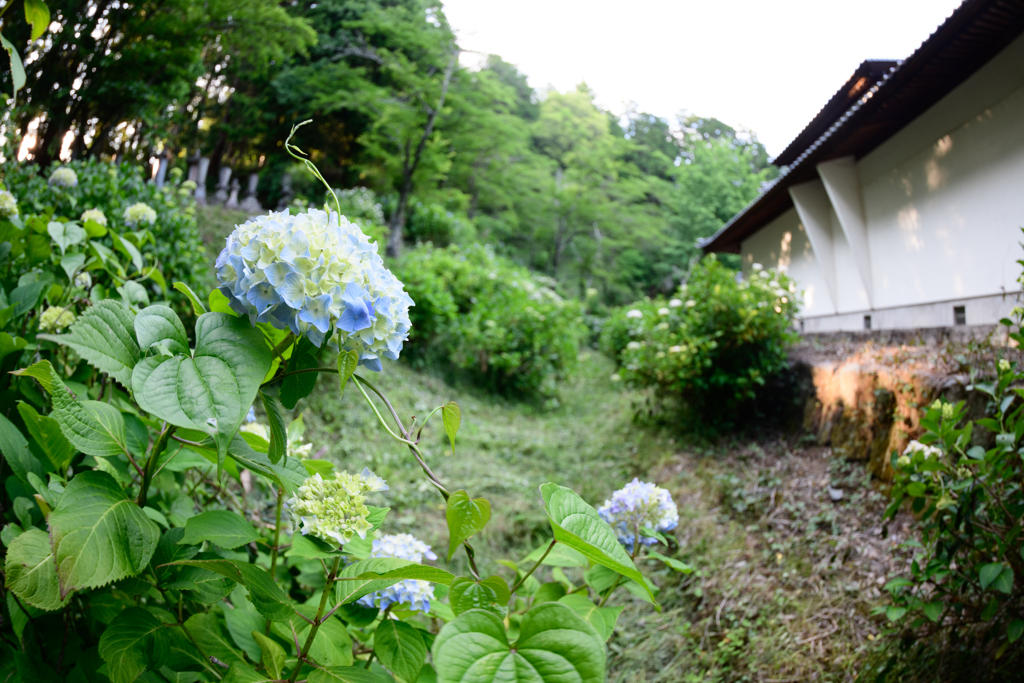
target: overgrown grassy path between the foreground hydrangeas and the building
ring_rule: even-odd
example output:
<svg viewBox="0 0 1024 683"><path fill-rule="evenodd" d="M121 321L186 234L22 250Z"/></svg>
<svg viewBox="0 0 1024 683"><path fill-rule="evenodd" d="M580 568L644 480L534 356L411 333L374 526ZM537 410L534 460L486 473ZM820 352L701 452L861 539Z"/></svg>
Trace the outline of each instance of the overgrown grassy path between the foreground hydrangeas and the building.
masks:
<svg viewBox="0 0 1024 683"><path fill-rule="evenodd" d="M556 410L453 387L402 364L369 378L407 424L451 399L462 407L455 457L437 416L423 443L450 488L494 507L474 543L481 570L508 578L495 560L522 558L550 538L538 492L544 481L598 505L640 476L672 490L680 508L678 545L660 550L697 571L644 567L660 587L659 614L625 591L612 598L626 610L609 642L609 681L854 680L878 649L885 624L869 612L885 600L884 578L905 561L895 547L909 520L884 535L884 496L859 464L827 449L770 437L694 443L638 426L634 405L642 396L610 381L604 356L582 357ZM446 549L440 497L353 386L339 398L337 380L322 378L298 410L323 457L349 470L369 466L388 480L394 514L385 530ZM829 485L842 488L842 501L829 499ZM462 562L457 554L452 568L463 570ZM565 573L582 580L578 570ZM547 567L540 574L551 580Z"/></svg>

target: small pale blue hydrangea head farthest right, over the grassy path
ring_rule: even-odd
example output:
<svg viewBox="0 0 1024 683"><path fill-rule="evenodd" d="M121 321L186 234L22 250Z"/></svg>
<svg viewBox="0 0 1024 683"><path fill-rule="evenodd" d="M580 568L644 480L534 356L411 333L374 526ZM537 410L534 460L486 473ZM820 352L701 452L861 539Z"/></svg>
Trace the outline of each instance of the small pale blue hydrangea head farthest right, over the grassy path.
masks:
<svg viewBox="0 0 1024 683"><path fill-rule="evenodd" d="M672 495L652 483L634 478L597 509L601 519L608 522L626 550L633 552L637 530L643 527L655 531L671 531L679 524L679 511ZM657 539L640 536L640 543L653 546Z"/></svg>

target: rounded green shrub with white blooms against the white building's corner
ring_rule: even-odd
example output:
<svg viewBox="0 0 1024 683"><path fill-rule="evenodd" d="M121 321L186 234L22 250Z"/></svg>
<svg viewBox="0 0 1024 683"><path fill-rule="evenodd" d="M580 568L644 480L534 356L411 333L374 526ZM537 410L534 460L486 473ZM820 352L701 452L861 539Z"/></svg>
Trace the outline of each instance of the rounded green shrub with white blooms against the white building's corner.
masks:
<svg viewBox="0 0 1024 683"><path fill-rule="evenodd" d="M755 398L784 368L795 338L795 291L781 272L758 266L754 276L739 280L709 256L672 299L617 310L604 326L601 347L627 382L718 419Z"/></svg>

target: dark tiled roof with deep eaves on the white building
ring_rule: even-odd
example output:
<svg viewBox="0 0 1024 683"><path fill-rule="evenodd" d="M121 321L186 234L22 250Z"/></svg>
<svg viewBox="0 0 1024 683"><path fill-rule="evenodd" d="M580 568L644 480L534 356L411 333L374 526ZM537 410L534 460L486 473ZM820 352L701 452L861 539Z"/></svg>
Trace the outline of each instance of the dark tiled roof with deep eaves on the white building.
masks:
<svg viewBox="0 0 1024 683"><path fill-rule="evenodd" d="M778 177L718 232L701 241L700 247L738 253L744 239L793 206L791 185L817 178L821 162L869 154L1022 32L1024 0L966 0L913 54L882 74L870 88L853 93L855 101L845 110L842 91L837 93L776 159L786 164ZM870 62L858 71L866 63Z"/></svg>

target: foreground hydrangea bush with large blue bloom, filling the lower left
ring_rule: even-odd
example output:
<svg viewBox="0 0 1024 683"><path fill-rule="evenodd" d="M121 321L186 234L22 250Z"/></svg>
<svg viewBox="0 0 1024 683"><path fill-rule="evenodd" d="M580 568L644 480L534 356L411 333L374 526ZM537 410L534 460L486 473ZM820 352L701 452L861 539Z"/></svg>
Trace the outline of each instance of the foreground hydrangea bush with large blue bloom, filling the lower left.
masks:
<svg viewBox="0 0 1024 683"><path fill-rule="evenodd" d="M364 260L364 240L343 231L340 216L319 217L319 242L294 229L317 215L287 223L291 230L269 225L285 226L276 214L264 218L239 226L238 252L231 241L225 249L242 259L222 284L233 300L220 289L200 296L181 287L186 316L103 298L78 309L63 332L35 334L28 323L59 307L44 308L43 292L60 294L38 272L12 273L30 289L11 294L16 303L0 325L4 362L16 369L3 374L9 384L0 391L0 679L484 683L525 680L502 672L539 672L530 680L603 681L605 641L621 610L606 603L617 587L657 608L656 589L634 559L646 550L646 558L687 568L644 544L627 552L597 510L545 483L550 541L504 560L500 574L481 572L473 543L490 506L442 481L419 445L424 429L442 430L456 450L458 404L437 407L414 430L356 372L371 336L349 347L359 331L346 331L344 316L356 299L374 318L365 328L373 340L379 330L382 340L392 334L375 318L390 312L377 292L397 281ZM254 231L259 253L240 237ZM329 232L338 241L322 261ZM49 267L59 267L50 257ZM324 278L335 279L333 332L323 334L338 345L314 346L314 323L293 329L272 314L259 319L271 304L253 310L265 299L250 300L262 281L246 262L264 278L275 264L294 268L278 274L301 273L303 305L325 296ZM283 303L301 315L301 306L272 305ZM55 331L63 321L59 311L54 317ZM382 479L310 456L301 418L285 416L324 381L358 392L368 417L437 490L444 560L465 575L440 566L418 539L385 531L392 522ZM649 522L667 529L662 507L644 505L660 511ZM554 572L541 584L549 566L580 567L586 586L566 595Z"/></svg>

